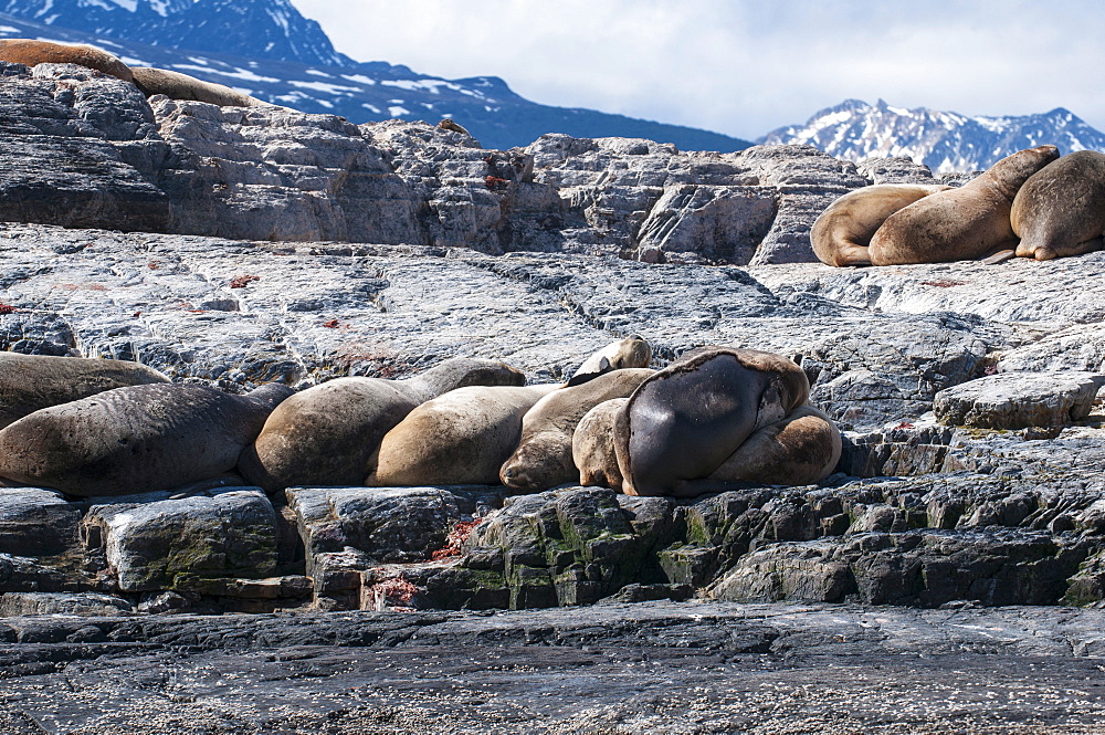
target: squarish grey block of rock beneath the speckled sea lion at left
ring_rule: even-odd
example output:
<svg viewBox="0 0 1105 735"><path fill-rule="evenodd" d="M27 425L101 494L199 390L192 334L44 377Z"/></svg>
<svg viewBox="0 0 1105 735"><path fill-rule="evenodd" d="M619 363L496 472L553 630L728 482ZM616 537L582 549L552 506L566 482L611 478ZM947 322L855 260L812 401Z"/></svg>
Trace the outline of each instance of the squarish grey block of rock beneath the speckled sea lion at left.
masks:
<svg viewBox="0 0 1105 735"><path fill-rule="evenodd" d="M87 546L102 549L119 589L187 588L191 578L269 577L276 568L276 514L256 489L143 505L92 507Z"/></svg>

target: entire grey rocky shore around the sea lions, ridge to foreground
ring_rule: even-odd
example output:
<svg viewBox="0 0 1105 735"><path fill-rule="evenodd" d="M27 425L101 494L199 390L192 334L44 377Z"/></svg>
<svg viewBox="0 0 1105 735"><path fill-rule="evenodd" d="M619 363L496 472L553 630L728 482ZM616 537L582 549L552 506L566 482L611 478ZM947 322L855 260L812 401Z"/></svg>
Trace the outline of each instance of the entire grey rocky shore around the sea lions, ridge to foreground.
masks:
<svg viewBox="0 0 1105 735"><path fill-rule="evenodd" d="M845 434L819 486L683 502L572 486L270 497L235 476L106 498L6 489L7 731L156 712L168 729L144 732L1093 732L1099 612L1076 608L1105 600L1105 253L830 269L809 245L829 202L936 179L794 146L550 135L490 151L429 125L147 104L50 65L0 65L0 132L2 350L244 393L451 357L559 381L640 334L661 366L709 344L792 357ZM457 608L545 609L441 611ZM334 643L357 650L319 648ZM236 712L235 684L196 694L149 673L167 663L202 686L210 671L326 683L267 690L294 702L265 720ZM350 699L365 681L375 693ZM669 702L673 686L691 694ZM513 693L481 710L499 687ZM181 717L194 729L171 729Z"/></svg>

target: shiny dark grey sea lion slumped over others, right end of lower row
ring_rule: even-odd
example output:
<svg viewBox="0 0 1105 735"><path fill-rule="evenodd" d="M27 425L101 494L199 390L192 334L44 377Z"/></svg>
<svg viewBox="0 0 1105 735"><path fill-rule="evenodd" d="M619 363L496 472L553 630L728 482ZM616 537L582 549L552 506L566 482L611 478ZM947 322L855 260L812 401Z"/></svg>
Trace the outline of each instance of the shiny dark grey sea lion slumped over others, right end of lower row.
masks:
<svg viewBox="0 0 1105 735"><path fill-rule="evenodd" d="M759 429L806 403L793 361L754 349L709 347L645 380L614 427L622 491L688 497Z"/></svg>

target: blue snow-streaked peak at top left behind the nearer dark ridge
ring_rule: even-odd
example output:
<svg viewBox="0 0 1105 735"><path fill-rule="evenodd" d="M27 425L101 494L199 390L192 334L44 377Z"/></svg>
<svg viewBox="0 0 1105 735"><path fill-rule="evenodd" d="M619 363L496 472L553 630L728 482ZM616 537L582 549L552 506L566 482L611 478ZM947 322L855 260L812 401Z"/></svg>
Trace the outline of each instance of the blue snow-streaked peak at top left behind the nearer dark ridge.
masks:
<svg viewBox="0 0 1105 735"><path fill-rule="evenodd" d="M354 63L288 0L0 0L0 12L154 46L308 64Z"/></svg>

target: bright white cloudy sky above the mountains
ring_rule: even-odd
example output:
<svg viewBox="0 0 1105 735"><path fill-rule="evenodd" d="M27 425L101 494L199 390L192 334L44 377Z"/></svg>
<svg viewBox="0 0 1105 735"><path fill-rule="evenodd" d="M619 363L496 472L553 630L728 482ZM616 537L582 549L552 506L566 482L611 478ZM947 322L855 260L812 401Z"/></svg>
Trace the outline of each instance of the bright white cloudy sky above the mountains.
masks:
<svg viewBox="0 0 1105 735"><path fill-rule="evenodd" d="M756 138L857 98L1105 129L1101 0L292 0L358 61Z"/></svg>

